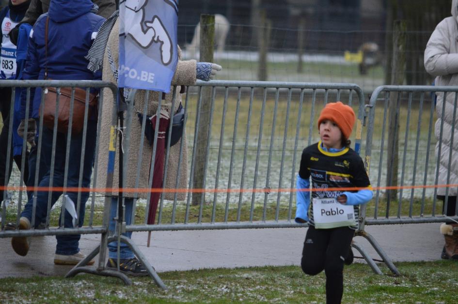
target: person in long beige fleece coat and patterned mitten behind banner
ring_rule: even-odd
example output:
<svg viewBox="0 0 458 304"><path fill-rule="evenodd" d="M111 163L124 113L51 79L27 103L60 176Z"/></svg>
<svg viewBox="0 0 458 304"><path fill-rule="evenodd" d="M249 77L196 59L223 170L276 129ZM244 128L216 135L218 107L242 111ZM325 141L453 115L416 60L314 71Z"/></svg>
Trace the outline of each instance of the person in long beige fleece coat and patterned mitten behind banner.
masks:
<svg viewBox="0 0 458 304"><path fill-rule="evenodd" d="M113 67L118 66L118 45L119 45L119 19L116 20L114 26L110 32L108 38L107 50L105 52L104 61L103 61L103 80L111 81L116 83L117 80L113 73ZM110 60L111 59L111 60ZM112 61L113 64L110 64ZM171 113L175 113L178 108L182 96L180 94L180 86L190 86L194 85L196 79L209 80L215 74L216 71L221 70L221 66L213 63L207 62L196 62L195 60L190 61L181 61L181 50L178 47L178 64L175 70L174 77L172 79L172 87L170 93L162 94L157 91L149 91L148 100L145 101L147 96L145 90L138 90L134 98L134 108L140 112L143 112L145 102L147 102L147 115L154 115L158 109L159 98L161 100L161 108L165 109L168 112L168 116L172 117ZM173 91L174 86L178 86L176 89L174 108L172 108L173 103ZM107 167L108 167L108 148L110 142L110 128L111 128L111 117L114 109L115 101L113 100L113 95L111 91L104 90L103 96L103 109L102 109L102 119L99 122L101 124L100 129L100 148L97 155L98 158L98 167L97 167L97 187L105 187L107 180ZM125 172L125 187L127 188L140 188L148 189L150 181L150 165L152 159L152 147L149 144L148 140L142 134L142 125L139 123L135 113L132 115L132 123L130 130L125 130L126 136L130 137L128 147L124 146L124 152L127 153L127 170ZM183 156L181 163L178 163L179 153L180 153L180 142L175 144L170 148L169 161L167 164L167 179L163 181L163 186L165 188L187 188L187 143L186 143L186 133L183 134ZM142 151L141 151L142 143ZM113 187L118 186L118 152L119 152L119 141L117 142L116 147L116 162L114 168L114 177L113 177ZM140 178L137 179L137 171L140 167ZM179 182L176 185L176 177L178 167L180 167ZM113 195L117 195L117 192L114 192ZM178 200L184 200L186 198L186 193L176 193ZM167 192L164 193L164 198L173 200L175 193ZM130 225L132 219L132 206L133 199L138 198L150 198L149 192L139 191L138 193L125 192L125 219L126 224ZM116 216L117 211L117 197L112 198L111 203L111 215L110 215L110 231L115 230L115 222L113 218ZM130 238L131 232L125 233L127 237ZM117 268L117 243L109 243L109 260L107 263L107 268L115 269ZM135 258L133 252L126 244L120 244L120 270L126 274L134 275L147 275L145 267L141 262Z"/></svg>

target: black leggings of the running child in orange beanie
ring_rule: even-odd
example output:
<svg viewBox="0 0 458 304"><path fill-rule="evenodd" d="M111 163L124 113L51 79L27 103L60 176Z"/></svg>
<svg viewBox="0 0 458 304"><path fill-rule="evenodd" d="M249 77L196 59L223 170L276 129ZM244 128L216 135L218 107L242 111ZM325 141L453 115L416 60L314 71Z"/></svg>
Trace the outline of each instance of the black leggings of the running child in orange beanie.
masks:
<svg viewBox="0 0 458 304"><path fill-rule="evenodd" d="M344 292L344 259L355 230L348 227L307 230L300 266L306 274L326 274L326 303L341 303Z"/></svg>

